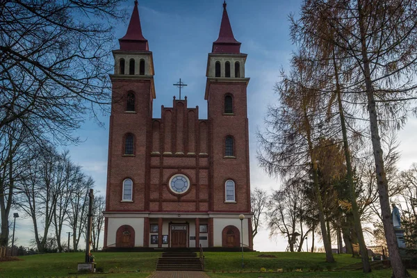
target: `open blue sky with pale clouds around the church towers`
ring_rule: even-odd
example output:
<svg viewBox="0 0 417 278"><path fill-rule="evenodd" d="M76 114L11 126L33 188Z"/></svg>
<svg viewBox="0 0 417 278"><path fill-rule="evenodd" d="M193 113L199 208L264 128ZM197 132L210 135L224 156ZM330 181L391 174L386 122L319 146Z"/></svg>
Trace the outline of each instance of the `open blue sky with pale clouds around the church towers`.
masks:
<svg viewBox="0 0 417 278"><path fill-rule="evenodd" d="M172 84L181 78L188 84L182 96L188 97L188 107L199 106L199 118L206 119L204 100L206 86L207 54L218 38L222 18L223 0L140 0L139 13L142 33L153 52L156 99L154 117L161 117L161 105L172 107L172 97L178 89ZM279 71L288 67L295 46L289 37L288 15L297 15L301 1L291 0L228 0L227 11L236 40L242 42L240 51L247 54L245 75L250 77L247 87L247 109L250 132L251 188L270 191L279 189L279 179L268 177L257 165L256 131L264 128L263 119L268 104L277 101L274 85L279 81ZM133 10L133 0L125 1L127 16L115 26L115 38L122 38ZM117 45L117 40L115 40ZM106 190L108 153L108 115L100 120L104 127L87 120L76 131L83 142L68 146L74 163L83 167L95 179L96 194ZM414 148L414 131L417 120L410 118L398 139L401 142L401 170L417 162ZM67 229L70 231L70 229ZM64 232L66 230L64 229ZM16 236L19 245L28 246L33 229L28 219L18 218ZM66 234L65 234L66 235ZM317 237L316 237L317 238ZM102 240L102 238L101 238ZM317 243L316 243L317 244ZM304 250L305 250L304 243ZM308 239L311 246L311 236ZM320 243L319 243L320 245ZM254 249L259 251L284 251L284 237L269 238L268 230L261 228L254 238Z"/></svg>

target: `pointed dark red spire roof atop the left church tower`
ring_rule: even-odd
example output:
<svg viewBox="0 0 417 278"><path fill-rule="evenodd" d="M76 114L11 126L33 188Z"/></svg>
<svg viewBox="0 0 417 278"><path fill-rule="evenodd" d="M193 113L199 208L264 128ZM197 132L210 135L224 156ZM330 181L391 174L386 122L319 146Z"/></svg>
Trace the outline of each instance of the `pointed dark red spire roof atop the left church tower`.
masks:
<svg viewBox="0 0 417 278"><path fill-rule="evenodd" d="M142 28L140 27L138 1L135 1L135 7L133 8L126 35L119 39L119 44L120 50L149 51L147 39L143 38Z"/></svg>

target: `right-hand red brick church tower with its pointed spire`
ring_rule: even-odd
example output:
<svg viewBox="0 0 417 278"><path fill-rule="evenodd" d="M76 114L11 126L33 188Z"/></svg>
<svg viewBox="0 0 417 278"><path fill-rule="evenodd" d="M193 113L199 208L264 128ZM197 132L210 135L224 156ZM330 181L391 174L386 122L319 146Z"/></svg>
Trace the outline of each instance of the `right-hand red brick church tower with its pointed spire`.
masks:
<svg viewBox="0 0 417 278"><path fill-rule="evenodd" d="M219 213L250 213L246 92L250 79L245 77L247 54L240 53L240 42L234 38L226 7L224 1L219 37L208 54L204 97L210 122L211 183L214 193L211 210ZM250 220L245 219L245 225L251 230L251 224L247 221ZM218 226L216 219L213 219L213 226ZM245 245L248 244L245 243L246 239L244 235ZM252 236L249 236L249 245L252 247Z"/></svg>

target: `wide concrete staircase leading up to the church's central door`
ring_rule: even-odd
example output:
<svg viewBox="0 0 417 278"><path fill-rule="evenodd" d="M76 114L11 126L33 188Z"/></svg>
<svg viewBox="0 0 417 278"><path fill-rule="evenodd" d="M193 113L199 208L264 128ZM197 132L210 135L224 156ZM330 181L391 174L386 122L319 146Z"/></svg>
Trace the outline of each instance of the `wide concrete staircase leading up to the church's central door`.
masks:
<svg viewBox="0 0 417 278"><path fill-rule="evenodd" d="M156 270L202 271L202 262L194 252L166 252L158 258Z"/></svg>

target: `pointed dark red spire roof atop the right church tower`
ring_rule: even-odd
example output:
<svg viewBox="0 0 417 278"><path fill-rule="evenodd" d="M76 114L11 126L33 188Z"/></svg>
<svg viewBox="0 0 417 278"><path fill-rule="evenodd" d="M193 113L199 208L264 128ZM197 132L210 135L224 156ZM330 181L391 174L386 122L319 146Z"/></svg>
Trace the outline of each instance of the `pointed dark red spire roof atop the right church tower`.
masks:
<svg viewBox="0 0 417 278"><path fill-rule="evenodd" d="M229 15L226 10L227 3L223 3L222 24L220 24L219 38L213 42L213 53L240 53L240 42L238 42L231 31Z"/></svg>

